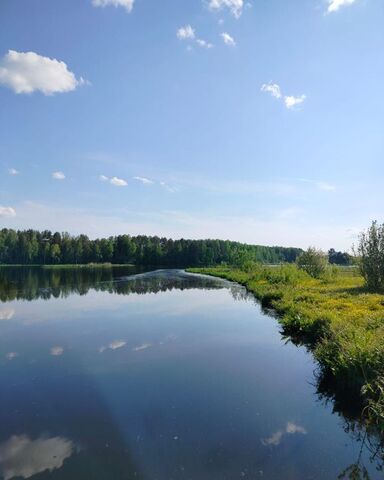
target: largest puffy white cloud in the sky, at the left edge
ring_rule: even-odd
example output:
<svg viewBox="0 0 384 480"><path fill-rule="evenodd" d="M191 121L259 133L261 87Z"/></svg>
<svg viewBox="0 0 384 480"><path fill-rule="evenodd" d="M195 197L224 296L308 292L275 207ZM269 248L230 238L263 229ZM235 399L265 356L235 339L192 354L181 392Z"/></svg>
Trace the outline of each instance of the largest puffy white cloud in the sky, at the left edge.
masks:
<svg viewBox="0 0 384 480"><path fill-rule="evenodd" d="M44 95L70 92L87 83L77 79L64 62L35 52L9 50L0 60L0 85L15 93L40 91Z"/></svg>

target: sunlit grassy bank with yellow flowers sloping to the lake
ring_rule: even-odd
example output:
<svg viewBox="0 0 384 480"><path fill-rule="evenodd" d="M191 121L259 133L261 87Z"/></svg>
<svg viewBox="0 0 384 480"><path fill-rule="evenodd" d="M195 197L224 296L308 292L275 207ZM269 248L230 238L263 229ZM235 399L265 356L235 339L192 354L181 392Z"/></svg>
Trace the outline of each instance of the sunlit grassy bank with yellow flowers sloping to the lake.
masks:
<svg viewBox="0 0 384 480"><path fill-rule="evenodd" d="M368 292L353 269L314 279L295 265L188 271L238 282L278 314L284 333L307 345L326 375L357 393L384 433L384 295Z"/></svg>

